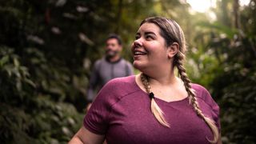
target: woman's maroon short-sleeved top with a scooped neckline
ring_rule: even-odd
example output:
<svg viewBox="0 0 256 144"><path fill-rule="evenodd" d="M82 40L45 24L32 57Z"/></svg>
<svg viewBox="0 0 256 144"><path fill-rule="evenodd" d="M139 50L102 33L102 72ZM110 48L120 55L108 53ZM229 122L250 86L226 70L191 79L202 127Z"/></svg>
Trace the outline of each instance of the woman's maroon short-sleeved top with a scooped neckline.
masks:
<svg viewBox="0 0 256 144"><path fill-rule="evenodd" d="M203 114L220 130L219 107L203 86L192 84ZM170 95L171 96L171 95ZM135 76L115 78L98 93L84 118L84 126L94 134L105 134L106 142L138 144L202 144L213 134L199 118L188 98L166 102L155 98L170 128L162 126L150 111L150 98L135 82Z"/></svg>

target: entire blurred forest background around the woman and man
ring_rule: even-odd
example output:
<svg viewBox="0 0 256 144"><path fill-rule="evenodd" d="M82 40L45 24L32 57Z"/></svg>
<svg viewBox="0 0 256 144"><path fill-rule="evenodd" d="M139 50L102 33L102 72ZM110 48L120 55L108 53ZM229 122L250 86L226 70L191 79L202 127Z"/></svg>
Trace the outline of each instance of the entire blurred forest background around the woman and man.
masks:
<svg viewBox="0 0 256 144"><path fill-rule="evenodd" d="M82 126L108 34L123 57L139 23L177 21L186 69L221 107L223 143L256 143L256 0L1 0L0 142L66 143Z"/></svg>

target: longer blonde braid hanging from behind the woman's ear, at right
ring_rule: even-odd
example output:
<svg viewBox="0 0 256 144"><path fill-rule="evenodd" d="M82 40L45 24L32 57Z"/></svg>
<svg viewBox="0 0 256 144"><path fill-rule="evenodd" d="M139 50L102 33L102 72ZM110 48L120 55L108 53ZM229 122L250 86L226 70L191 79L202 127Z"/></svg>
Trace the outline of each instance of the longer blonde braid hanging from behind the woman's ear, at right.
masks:
<svg viewBox="0 0 256 144"><path fill-rule="evenodd" d="M194 107L195 112L200 116L210 127L214 134L214 139L208 141L210 143L216 143L218 141L218 128L215 125L214 121L211 120L210 118L207 118L203 113L202 110L200 109L200 106L198 105L197 98L194 94L194 90L191 88L191 81L190 78L188 78L186 74L186 69L183 66L182 60L185 59L185 55L182 54L181 51L178 51L178 54L175 55L174 57L174 66L177 66L178 69L178 74L180 75L182 82L186 88L186 91L188 93L189 99L190 99L190 104Z"/></svg>

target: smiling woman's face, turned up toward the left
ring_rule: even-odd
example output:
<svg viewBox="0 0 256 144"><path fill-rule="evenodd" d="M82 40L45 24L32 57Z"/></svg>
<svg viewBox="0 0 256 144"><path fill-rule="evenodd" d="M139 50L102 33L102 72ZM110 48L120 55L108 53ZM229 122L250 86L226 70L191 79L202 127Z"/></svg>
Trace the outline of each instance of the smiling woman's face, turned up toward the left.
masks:
<svg viewBox="0 0 256 144"><path fill-rule="evenodd" d="M160 34L160 28L154 23L144 23L138 29L132 45L134 67L138 70L170 65L166 41Z"/></svg>

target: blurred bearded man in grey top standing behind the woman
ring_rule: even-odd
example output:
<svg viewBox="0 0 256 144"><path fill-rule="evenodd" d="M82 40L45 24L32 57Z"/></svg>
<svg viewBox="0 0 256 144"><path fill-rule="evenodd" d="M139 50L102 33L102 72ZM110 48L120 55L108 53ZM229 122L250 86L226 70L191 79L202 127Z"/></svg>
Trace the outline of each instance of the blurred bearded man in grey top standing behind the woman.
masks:
<svg viewBox="0 0 256 144"><path fill-rule="evenodd" d="M100 90L102 86L113 78L126 77L134 74L133 66L121 56L122 40L117 34L110 34L106 38L105 57L94 63L94 69L90 77L89 89L87 90L86 110L90 109L90 104L95 98L94 91Z"/></svg>

